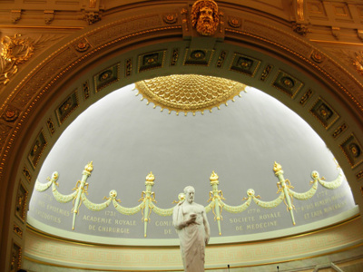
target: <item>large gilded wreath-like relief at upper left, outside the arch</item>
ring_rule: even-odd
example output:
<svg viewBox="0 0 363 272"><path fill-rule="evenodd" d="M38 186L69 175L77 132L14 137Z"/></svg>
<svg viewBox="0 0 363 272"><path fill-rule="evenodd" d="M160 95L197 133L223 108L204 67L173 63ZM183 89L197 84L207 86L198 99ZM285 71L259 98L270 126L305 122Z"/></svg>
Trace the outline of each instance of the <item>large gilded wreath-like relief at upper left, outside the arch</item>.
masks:
<svg viewBox="0 0 363 272"><path fill-rule="evenodd" d="M3 48L0 53L0 84L7 84L18 71L18 65L28 61L34 54L34 43L21 34L14 37L4 36L0 43Z"/></svg>

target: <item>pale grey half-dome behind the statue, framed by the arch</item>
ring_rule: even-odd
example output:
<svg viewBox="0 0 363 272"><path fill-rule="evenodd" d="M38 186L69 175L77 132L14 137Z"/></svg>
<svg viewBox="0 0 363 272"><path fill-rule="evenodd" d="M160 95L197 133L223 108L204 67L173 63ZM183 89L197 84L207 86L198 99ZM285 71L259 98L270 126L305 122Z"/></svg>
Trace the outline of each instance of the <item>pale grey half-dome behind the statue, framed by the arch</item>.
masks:
<svg viewBox="0 0 363 272"><path fill-rule="evenodd" d="M199 77L128 85L79 115L44 161L28 223L88 242L176 245L170 214L187 185L207 207L211 243L292 235L358 213L337 161L296 113L257 89ZM58 186L47 180L54 171Z"/></svg>

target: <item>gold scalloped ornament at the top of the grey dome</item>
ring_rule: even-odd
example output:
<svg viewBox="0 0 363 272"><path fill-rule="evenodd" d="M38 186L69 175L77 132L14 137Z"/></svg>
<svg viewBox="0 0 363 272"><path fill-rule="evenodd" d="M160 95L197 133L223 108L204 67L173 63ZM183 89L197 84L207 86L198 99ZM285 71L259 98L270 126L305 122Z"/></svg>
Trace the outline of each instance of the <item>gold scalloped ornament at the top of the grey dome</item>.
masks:
<svg viewBox="0 0 363 272"><path fill-rule="evenodd" d="M204 113L214 107L220 110L220 105L234 102L235 96L245 91L246 85L228 79L198 75L198 74L173 74L161 76L150 80L135 83L138 90L136 95L142 94L142 100L152 102L154 108L161 107L176 112Z"/></svg>

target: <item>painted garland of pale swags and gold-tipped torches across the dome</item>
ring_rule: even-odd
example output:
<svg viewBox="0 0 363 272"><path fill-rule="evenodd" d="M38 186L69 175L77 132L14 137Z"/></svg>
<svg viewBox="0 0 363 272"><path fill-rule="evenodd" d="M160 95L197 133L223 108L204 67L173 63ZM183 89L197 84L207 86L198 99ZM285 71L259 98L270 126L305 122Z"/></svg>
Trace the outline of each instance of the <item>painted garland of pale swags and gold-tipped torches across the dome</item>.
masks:
<svg viewBox="0 0 363 272"><path fill-rule="evenodd" d="M282 202L284 202L287 207L287 211L289 212L289 215L291 217L292 225L295 225L296 224L294 218L295 206L293 205L293 199L298 199L298 200L311 199L317 192L318 184L320 184L326 189L337 189L342 184L343 180L345 180L345 176L342 170L339 171L338 178L332 181L324 181L325 179L323 177L320 178L319 172L314 170L311 172L311 178L312 178L312 181L310 181L310 184L312 184L311 188L306 192L299 193L294 191L293 190L294 187L291 185L291 182L284 178L283 176L284 171L282 170L282 167L279 163L277 162L274 163L273 170L275 176L279 180L277 182L277 187L278 187L277 194L279 194L279 196L272 201L263 201L261 200L260 196L256 195L254 189L248 189L246 193L247 197L243 198L242 200L244 202L238 206L231 206L225 203L223 192L221 189L218 188L218 185L220 184L219 177L214 171L212 171L210 177L212 190L209 192L210 198L208 199L208 202L210 203L205 207L205 210L206 212L211 211L214 214L214 221L217 223L220 235L221 235L222 210L225 210L226 212L230 213L241 213L250 207L252 200L256 205L258 205L262 209L273 209L278 207ZM93 211L100 211L106 209L108 206L110 206L111 203L113 203L114 209L116 209L118 212L126 216L131 216L133 214L141 212L142 221L144 223L144 229L143 229L144 237L147 236L147 226L148 223L150 222L152 212L162 217L172 216L172 210L174 209L174 207L171 207L169 209L162 209L156 205L157 203L156 196L155 193L152 191L152 186L154 185L155 177L152 174L152 172L150 172L146 176L146 181L145 181L146 189L142 191L141 199L139 199L139 202L141 203L132 208L126 208L120 204L121 200L117 199L118 195L115 189L112 189L110 191L109 197L103 198L106 199L103 203L96 204L87 199L88 187L89 187L87 179L91 176L92 171L93 171L93 162L91 161L84 167L82 179L78 180L77 183L75 184L74 192L68 195L63 195L57 189L58 186L57 181L59 180L58 172L54 172L52 178L48 179L49 181L46 183L41 183L39 182L39 180L36 180L34 188L37 191L43 192L52 186L54 199L56 199L58 202L67 203L73 201L72 213L74 214L74 216L72 221L72 229L75 228L76 216L80 211L79 208L82 205L82 203L85 206L85 208ZM185 199L185 196L183 193L180 193L178 195L178 200L175 200L173 203L179 203L183 199Z"/></svg>

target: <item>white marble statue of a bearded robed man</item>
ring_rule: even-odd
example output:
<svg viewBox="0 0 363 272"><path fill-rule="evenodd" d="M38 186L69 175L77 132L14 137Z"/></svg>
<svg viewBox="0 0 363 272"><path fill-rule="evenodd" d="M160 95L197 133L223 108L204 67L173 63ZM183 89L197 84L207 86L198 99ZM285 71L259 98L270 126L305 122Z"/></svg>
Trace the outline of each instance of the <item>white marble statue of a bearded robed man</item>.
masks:
<svg viewBox="0 0 363 272"><path fill-rule="evenodd" d="M181 242L182 264L185 272L204 271L204 249L210 239L210 225L205 209L194 202L195 189L184 189L185 199L175 206L172 223Z"/></svg>

